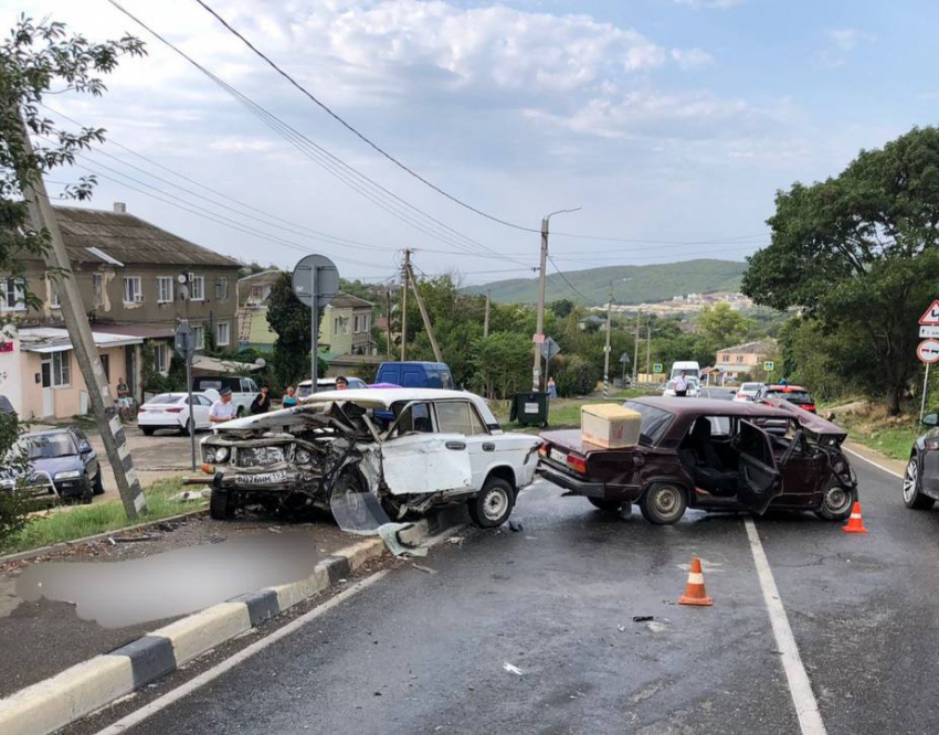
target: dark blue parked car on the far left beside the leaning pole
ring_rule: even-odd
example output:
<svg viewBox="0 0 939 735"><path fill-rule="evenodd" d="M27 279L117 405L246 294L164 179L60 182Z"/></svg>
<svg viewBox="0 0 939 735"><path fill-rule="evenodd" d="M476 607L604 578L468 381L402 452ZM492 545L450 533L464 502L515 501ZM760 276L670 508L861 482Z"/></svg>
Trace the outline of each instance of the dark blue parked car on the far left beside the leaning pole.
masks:
<svg viewBox="0 0 939 735"><path fill-rule="evenodd" d="M28 432L20 437L15 451L25 452L29 460L29 494L52 494L89 503L92 496L104 492L97 452L81 429ZM7 471L0 477L0 487L12 488L19 479Z"/></svg>

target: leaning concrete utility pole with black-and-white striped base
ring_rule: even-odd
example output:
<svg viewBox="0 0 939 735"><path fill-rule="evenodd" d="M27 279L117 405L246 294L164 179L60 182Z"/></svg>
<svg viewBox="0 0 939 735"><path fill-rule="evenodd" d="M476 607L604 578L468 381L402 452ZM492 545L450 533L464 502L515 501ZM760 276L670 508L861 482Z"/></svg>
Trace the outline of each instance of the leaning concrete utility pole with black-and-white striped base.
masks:
<svg viewBox="0 0 939 735"><path fill-rule="evenodd" d="M32 153L32 141L27 135L22 115L20 116L20 136L23 149ZM75 281L68 253L65 251L65 243L62 241L62 232L59 230L59 222L52 211L52 205L49 203L49 194L45 191L45 183L40 171L36 170L33 177L23 177L20 185L29 206L33 227L36 231L45 228L49 233L50 247L44 254L45 264L49 268L57 269L59 275L55 278L59 280L62 317L65 320L65 328L68 330L68 339L72 342L82 376L85 379L92 411L95 414L95 420L104 441L108 464L114 471L114 479L117 481L117 490L124 503L124 512L128 520L135 521L139 514L147 512L147 500L144 497L140 480L137 478L137 471L134 469L130 452L127 449L127 437L114 405L114 396L110 394L107 375L105 375L101 363L95 338L82 302L82 294L78 290L78 284Z"/></svg>

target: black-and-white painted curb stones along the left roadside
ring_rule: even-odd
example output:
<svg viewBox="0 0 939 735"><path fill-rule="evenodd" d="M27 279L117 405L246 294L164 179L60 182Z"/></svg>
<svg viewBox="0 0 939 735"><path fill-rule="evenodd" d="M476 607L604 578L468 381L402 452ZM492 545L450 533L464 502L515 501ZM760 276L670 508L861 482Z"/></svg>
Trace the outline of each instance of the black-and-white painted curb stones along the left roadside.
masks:
<svg viewBox="0 0 939 735"><path fill-rule="evenodd" d="M399 539L416 545L428 536L462 523L447 510L402 531ZM176 671L212 648L241 636L294 605L337 586L366 562L383 556L377 537L340 548L298 582L266 587L213 605L163 626L120 648L20 690L0 700L0 733L48 735L137 689Z"/></svg>

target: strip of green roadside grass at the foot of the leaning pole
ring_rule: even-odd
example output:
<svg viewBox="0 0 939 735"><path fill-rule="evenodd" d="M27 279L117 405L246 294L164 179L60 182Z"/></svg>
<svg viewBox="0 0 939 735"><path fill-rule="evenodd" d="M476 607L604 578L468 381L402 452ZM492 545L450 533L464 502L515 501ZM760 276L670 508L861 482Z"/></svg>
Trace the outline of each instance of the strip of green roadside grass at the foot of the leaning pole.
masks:
<svg viewBox="0 0 939 735"><path fill-rule="evenodd" d="M145 490L147 515L133 523L127 520L124 505L119 500L92 505L54 508L48 514L33 515L23 531L10 539L0 541L0 553L15 554L17 552L50 546L64 541L75 541L97 533L119 531L137 523L158 521L161 518L197 510L199 505L192 502L170 500L170 497L181 489L181 478L154 482Z"/></svg>

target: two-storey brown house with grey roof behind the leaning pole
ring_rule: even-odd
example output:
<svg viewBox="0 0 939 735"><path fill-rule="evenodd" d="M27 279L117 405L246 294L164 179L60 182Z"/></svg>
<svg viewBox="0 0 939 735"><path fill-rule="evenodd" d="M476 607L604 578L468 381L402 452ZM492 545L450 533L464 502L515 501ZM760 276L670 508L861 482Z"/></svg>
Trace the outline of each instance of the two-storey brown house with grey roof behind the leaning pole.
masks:
<svg viewBox="0 0 939 735"><path fill-rule="evenodd" d="M210 341L234 349L238 262L128 214L122 203L113 212L53 210L115 388L123 377L143 397L145 362L152 358L156 371L169 370L182 320L196 328L203 349ZM42 300L38 308L24 303L25 289ZM24 418L84 413L87 390L64 330L55 278L41 259L27 258L21 276L0 274L0 317L12 322L0 338L0 393Z"/></svg>

